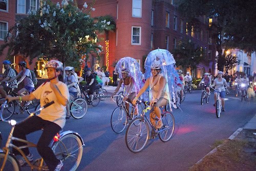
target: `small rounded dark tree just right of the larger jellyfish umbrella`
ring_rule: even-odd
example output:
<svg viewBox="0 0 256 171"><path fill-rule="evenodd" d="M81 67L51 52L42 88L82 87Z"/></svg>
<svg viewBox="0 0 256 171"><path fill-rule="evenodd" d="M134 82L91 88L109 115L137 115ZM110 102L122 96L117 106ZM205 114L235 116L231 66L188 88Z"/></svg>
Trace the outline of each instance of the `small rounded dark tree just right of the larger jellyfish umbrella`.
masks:
<svg viewBox="0 0 256 171"><path fill-rule="evenodd" d="M196 69L200 61L204 59L205 52L200 47L195 48L195 44L189 40L179 42L176 49L172 51L176 59L176 65L190 70Z"/></svg>

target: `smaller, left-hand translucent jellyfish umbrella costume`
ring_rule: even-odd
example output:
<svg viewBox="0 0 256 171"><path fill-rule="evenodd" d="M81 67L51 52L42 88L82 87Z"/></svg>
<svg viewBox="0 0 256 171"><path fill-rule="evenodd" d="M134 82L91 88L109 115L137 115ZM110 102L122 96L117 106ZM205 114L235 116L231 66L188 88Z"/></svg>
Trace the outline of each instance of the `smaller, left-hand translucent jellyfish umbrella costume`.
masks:
<svg viewBox="0 0 256 171"><path fill-rule="evenodd" d="M132 57L123 57L119 59L115 67L115 70L119 75L119 79L122 79L122 69L124 68L129 70L129 76L133 77L134 86L136 88L136 92L138 92L144 85L142 82L144 75L140 70L138 61Z"/></svg>

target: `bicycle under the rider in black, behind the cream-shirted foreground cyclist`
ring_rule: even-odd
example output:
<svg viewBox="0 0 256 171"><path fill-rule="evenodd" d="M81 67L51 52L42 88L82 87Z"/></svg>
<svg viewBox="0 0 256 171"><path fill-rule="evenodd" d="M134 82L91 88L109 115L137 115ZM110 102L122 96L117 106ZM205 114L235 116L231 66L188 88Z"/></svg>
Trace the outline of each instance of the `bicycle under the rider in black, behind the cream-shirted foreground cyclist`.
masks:
<svg viewBox="0 0 256 171"><path fill-rule="evenodd" d="M87 104L92 106L97 106L100 101L100 95L98 91L93 92L93 100L90 100L90 96L88 95L88 92L90 91L87 86L80 86L81 90L81 98L86 100Z"/></svg>

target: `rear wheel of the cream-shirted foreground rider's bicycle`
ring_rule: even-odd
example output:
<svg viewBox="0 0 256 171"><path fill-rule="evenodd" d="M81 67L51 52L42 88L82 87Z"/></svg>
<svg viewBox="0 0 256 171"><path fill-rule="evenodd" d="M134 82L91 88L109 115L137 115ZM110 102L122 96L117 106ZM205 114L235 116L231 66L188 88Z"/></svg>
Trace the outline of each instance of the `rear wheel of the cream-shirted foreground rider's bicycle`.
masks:
<svg viewBox="0 0 256 171"><path fill-rule="evenodd" d="M82 159L82 142L75 134L67 134L54 143L52 151L62 160L61 170L76 170Z"/></svg>

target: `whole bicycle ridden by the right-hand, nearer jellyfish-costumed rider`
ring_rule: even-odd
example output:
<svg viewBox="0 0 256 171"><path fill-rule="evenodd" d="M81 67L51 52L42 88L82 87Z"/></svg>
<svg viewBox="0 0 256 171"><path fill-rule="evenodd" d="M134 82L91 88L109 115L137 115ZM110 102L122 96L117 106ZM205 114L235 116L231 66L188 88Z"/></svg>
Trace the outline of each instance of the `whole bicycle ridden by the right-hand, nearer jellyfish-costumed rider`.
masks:
<svg viewBox="0 0 256 171"><path fill-rule="evenodd" d="M129 124L125 134L125 144L127 148L133 153L141 152L142 149L145 147L148 139L154 139L157 135L162 142L167 142L173 136L175 129L175 119L173 114L170 112L166 112L163 107L161 108L163 126L161 127L161 129L156 129L155 126L153 126L153 124L150 122L150 120L147 119L147 116L145 115L148 110L151 110L151 106L148 105L147 101L140 102L145 105L143 112L140 117L135 118ZM157 118L155 120L157 120ZM148 124L152 127L151 136L150 127Z"/></svg>

